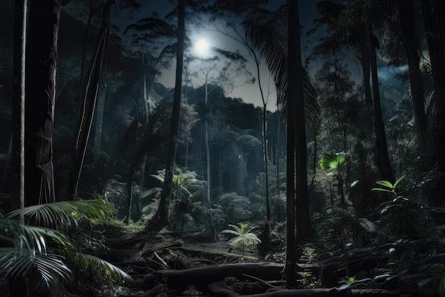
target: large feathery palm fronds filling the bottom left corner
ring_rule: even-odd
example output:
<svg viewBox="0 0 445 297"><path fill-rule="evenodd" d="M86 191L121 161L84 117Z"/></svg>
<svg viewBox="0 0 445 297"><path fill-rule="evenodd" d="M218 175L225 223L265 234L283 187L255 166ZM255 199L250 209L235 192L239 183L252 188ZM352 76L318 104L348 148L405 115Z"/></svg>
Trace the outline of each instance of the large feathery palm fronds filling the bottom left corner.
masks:
<svg viewBox="0 0 445 297"><path fill-rule="evenodd" d="M95 199L34 205L2 217L0 273L13 280L10 296L23 296L26 292L26 287L14 286L16 278L28 278L33 296L65 290L75 283L70 262L84 268L100 268L119 283L132 283L132 278L121 269L77 250L74 241L60 231L66 226L77 226L79 219L106 223L115 212L112 204Z"/></svg>

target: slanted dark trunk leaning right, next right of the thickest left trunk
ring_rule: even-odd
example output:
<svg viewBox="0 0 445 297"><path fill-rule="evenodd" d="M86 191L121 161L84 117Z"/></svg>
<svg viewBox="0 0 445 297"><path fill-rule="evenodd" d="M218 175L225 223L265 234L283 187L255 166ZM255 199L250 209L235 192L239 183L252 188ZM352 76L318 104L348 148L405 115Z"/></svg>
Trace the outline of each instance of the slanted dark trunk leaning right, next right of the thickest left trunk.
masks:
<svg viewBox="0 0 445 297"><path fill-rule="evenodd" d="M90 62L91 71L89 77L92 77L92 81L88 80L86 85L85 114L81 114L80 117L85 117L84 120L80 120L80 125L77 127L77 140L75 147L75 154L73 157L73 172L70 179L70 194L73 200L78 199L77 188L79 186L80 174L82 172L83 163L85 161L85 154L87 152L88 140L90 139L90 132L92 127L92 121L95 115L95 108L97 103L97 92L100 85L100 77L102 72L102 62L104 58L105 44L108 38L109 31L109 14L111 11L112 1L107 1L104 4L102 26L100 29L99 39L93 58ZM82 125L84 123L84 125Z"/></svg>

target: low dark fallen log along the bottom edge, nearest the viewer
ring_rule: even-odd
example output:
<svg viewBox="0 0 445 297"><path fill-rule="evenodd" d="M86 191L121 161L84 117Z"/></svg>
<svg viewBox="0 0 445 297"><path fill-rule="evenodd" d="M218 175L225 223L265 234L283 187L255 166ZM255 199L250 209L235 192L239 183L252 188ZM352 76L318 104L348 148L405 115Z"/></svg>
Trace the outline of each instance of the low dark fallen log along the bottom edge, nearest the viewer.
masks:
<svg viewBox="0 0 445 297"><path fill-rule="evenodd" d="M238 297L400 297L399 291L387 291L378 289L351 289L339 290L338 288L303 288L292 290L279 290L262 294L238 296Z"/></svg>

